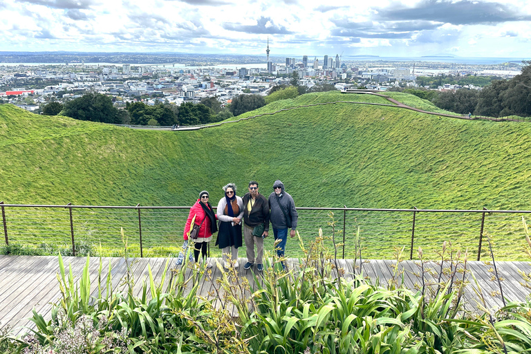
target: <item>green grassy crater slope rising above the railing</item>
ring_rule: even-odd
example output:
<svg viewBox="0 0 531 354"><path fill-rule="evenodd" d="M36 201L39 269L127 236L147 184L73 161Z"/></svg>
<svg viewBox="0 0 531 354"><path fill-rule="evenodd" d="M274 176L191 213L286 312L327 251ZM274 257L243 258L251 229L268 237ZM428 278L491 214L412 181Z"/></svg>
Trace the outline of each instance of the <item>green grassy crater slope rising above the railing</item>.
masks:
<svg viewBox="0 0 531 354"><path fill-rule="evenodd" d="M416 96L390 95L436 111ZM242 116L335 101L389 103L371 95L312 93ZM1 105L0 127L5 203L192 205L207 189L215 205L228 182L243 195L248 181L258 180L268 195L281 179L297 207L530 209L531 125L522 122L337 103L174 132L44 117ZM507 227L521 241L521 221ZM429 244L447 237L431 232ZM393 238L382 241L389 257ZM520 252L510 241L500 251L505 259Z"/></svg>

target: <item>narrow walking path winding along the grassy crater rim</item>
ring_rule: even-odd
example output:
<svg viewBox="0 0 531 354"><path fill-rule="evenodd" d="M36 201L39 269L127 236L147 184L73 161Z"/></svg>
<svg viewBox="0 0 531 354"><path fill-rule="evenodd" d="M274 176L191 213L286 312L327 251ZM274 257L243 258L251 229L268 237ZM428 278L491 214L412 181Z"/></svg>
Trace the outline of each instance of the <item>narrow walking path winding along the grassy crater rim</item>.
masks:
<svg viewBox="0 0 531 354"><path fill-rule="evenodd" d="M425 113L425 114L431 114L431 115L438 115L439 117L448 117L448 118L458 118L458 119L466 119L466 120L492 120L496 122L500 121L510 121L510 122L521 122L521 120L514 119L514 118L492 118L492 117L483 117L481 115L475 115L474 117L469 117L468 115L455 115L455 114L449 114L449 113L436 113L436 112L430 112L430 111L423 111L422 109L414 108L411 106L407 106L406 104L403 104L402 102L399 102L387 95L383 95L380 93L381 91L368 91L368 90L347 90L342 91L342 93L362 93L365 95L375 95L378 97L383 97L392 104L385 104L385 103L373 103L373 102L357 102L357 101L335 101L335 102L322 102L322 103L315 103L315 104L304 104L301 106L294 106L290 108L285 109L279 109L278 111L269 112L269 113L261 113L257 115L252 115L250 117L240 118L238 120L229 120L227 122L219 122L214 124L202 124L202 125L185 125L182 127L147 127L145 125L124 125L124 124L115 124L121 127L129 127L131 129L151 129L151 130L171 130L171 131L190 131L190 130L199 130L199 129L205 129L205 128L212 128L212 127L219 127L223 124L230 124L230 123L236 123L241 122L242 120L250 120L252 118L259 118L263 117L264 115L273 115L275 113L280 113L283 111L290 111L292 109L299 109L299 108L307 108L311 106L319 106L323 104L336 104L336 103L351 103L351 104L369 104L372 106L386 106L386 107L394 107L394 108L400 108L400 109L409 109L410 111L416 111L419 113Z"/></svg>

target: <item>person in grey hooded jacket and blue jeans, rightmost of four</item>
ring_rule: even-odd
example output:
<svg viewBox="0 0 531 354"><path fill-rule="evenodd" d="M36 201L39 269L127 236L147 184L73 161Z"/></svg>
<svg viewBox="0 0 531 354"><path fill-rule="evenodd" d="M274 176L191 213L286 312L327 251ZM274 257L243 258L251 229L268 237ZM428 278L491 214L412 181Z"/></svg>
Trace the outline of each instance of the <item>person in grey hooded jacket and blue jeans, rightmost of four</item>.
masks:
<svg viewBox="0 0 531 354"><path fill-rule="evenodd" d="M277 245L277 254L279 257L284 256L286 241L288 241L288 228L291 228L290 236L295 236L297 229L297 209L293 198L284 191L284 185L280 180L275 180L273 192L268 198L270 212L270 221L273 226L274 239L281 239ZM282 264L284 266L284 264Z"/></svg>

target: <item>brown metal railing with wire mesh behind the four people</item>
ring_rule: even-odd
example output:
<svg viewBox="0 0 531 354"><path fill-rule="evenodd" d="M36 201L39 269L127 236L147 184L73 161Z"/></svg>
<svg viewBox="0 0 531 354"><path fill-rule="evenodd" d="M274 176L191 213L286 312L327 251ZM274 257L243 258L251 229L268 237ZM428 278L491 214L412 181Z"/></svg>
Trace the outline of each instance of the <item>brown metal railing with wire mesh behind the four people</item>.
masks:
<svg viewBox="0 0 531 354"><path fill-rule="evenodd" d="M25 246L80 254L87 249L116 257L124 252L140 257L177 254L190 207L17 205L0 202L5 246ZM480 260L492 245L497 257L524 260L526 245L522 216L529 210L368 209L348 207L298 207L297 231L306 243L319 228L329 250L337 257L353 258L360 230L363 258L394 258L398 250L414 259L422 248L425 257L438 257L443 241L454 250L465 249L469 259ZM127 240L122 240L121 230ZM272 234L272 230L270 230ZM489 236L490 239L486 239ZM214 235L214 240L216 235ZM273 237L265 239L272 250ZM487 240L487 241L486 241ZM214 243L212 243L214 245ZM295 239L288 242L290 257L304 254ZM214 254L221 254L215 248Z"/></svg>

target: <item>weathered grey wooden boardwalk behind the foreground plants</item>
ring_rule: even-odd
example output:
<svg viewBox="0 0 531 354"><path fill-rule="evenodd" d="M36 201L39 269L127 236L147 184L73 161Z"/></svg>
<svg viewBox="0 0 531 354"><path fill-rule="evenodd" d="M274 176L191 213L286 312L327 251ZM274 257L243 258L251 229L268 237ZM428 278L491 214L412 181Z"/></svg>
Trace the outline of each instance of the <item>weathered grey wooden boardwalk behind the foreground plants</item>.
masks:
<svg viewBox="0 0 531 354"><path fill-rule="evenodd" d="M84 257L64 257L64 264L68 272L68 264L71 265L74 277L79 279L82 274L82 269L86 263ZM220 259L212 259L215 262ZM243 269L245 259L240 259L240 267L238 275L246 277L252 288L256 288L252 272ZM142 282L148 277L148 264L151 267L151 272L155 278L155 283L160 283L162 272L165 268L167 259L163 258L138 258L125 259L120 258L104 258L103 263L103 277L106 277L106 272L111 264L112 283L114 289L124 289L123 278L127 270L127 265L131 265L131 272L136 281L134 292L140 295L142 291ZM169 260L170 268L174 267L175 259ZM298 259L289 259L288 268L294 269L297 267ZM339 268L344 269L343 277L345 279L353 279L354 274L360 274L366 279L371 279L380 282L381 286L387 286L389 281L393 279L393 265L395 261L388 260L371 260L364 261L361 265L358 263L356 270L353 268L353 260L339 259ZM93 295L97 294L97 277L98 268L100 266L99 258L90 259L90 274ZM529 262L507 262L500 261L496 263L499 277L501 281L503 295L508 301L522 301L526 296L530 295L531 290L524 288L521 285L521 275L518 270L531 273L531 263ZM445 265L447 268L447 265ZM502 306L500 295L500 288L492 265L478 261L469 261L467 269L471 270L474 277L478 280L479 285L483 291L485 302L488 309L497 309ZM254 269L254 268L252 268ZM418 261L402 261L399 263L398 275L395 279L398 283L404 283L404 287L409 289L417 289L422 280L420 279L420 265ZM438 273L440 265L436 263L429 263L425 265L425 279L431 285L428 288L436 288L434 285L438 281ZM403 272L402 272L403 271ZM187 275L192 274L193 270L187 270ZM10 326L15 333L24 333L32 327L32 322L28 320L32 315L32 309L35 308L37 313L45 315L46 319L50 318L51 303L57 301L60 296L59 286L57 282L57 273L59 273L59 262L57 257L35 257L35 256L5 256L0 255L0 328ZM443 279L447 277L447 269L443 271ZM212 274L205 277L203 283L200 284L199 295L213 299L212 292L214 288L218 288L215 279L222 277L222 271L215 265L212 268ZM462 277L462 272L456 273L457 277ZM465 303L467 310L474 310L477 305L478 295L472 288L475 283L469 273L465 274L469 282L465 290ZM169 274L167 279L169 278ZM261 281L261 277L257 277ZM102 280L104 281L104 280ZM149 283L149 282L148 282ZM189 284L190 286L190 284ZM225 304L217 304L216 306L225 306ZM234 313L233 315L236 315Z"/></svg>

